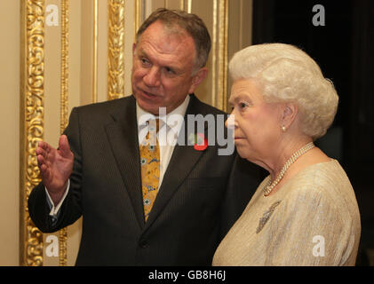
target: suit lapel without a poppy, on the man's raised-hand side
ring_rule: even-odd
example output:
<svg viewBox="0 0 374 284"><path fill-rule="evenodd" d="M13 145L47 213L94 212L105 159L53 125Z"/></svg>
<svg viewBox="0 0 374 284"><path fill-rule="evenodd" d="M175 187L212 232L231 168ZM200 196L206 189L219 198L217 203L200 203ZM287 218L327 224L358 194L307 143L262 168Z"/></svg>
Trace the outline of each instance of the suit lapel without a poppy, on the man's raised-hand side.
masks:
<svg viewBox="0 0 374 284"><path fill-rule="evenodd" d="M133 97L123 99L121 107L111 114L113 122L107 124L107 139L123 183L129 193L140 228L144 227L143 201L139 162L138 122Z"/></svg>

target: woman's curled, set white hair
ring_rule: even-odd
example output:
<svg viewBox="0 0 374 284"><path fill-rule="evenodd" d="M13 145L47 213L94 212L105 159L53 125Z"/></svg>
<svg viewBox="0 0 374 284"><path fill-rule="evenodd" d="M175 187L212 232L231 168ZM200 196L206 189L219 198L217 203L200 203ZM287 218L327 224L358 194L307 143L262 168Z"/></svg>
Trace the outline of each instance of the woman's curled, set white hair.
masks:
<svg viewBox="0 0 374 284"><path fill-rule="evenodd" d="M251 45L235 53L229 72L234 81L254 79L268 103L296 103L301 131L314 140L326 133L337 113L333 83L314 59L293 45Z"/></svg>

